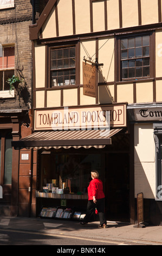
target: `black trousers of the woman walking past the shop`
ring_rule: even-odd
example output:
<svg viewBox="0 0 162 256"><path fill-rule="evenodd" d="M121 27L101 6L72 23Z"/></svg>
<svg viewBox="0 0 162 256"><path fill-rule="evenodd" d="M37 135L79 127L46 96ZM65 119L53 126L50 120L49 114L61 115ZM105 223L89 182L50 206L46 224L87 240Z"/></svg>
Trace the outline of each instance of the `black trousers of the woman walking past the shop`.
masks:
<svg viewBox="0 0 162 256"><path fill-rule="evenodd" d="M106 224L106 217L104 214L104 198L97 199L96 201L97 202L95 204L93 203L93 200L88 200L87 212L85 218L83 218L83 222L88 223L90 221L90 217L93 215L96 208L99 212L100 225Z"/></svg>

